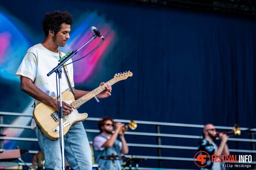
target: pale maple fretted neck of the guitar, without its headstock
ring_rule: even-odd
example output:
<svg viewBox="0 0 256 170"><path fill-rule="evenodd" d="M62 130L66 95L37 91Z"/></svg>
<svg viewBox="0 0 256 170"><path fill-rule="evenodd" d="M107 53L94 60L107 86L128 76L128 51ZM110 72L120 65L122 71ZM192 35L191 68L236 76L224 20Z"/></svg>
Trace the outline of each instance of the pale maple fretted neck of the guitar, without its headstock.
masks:
<svg viewBox="0 0 256 170"><path fill-rule="evenodd" d="M106 82L105 84L103 84L102 86L99 86L98 88L92 90L91 92L87 93L86 95L84 95L83 97L80 97L79 99L77 99L76 101L72 102L71 105L77 109L80 106L82 106L85 102L87 102L88 100L92 99L94 96L96 96L97 94L103 92L104 90L106 90L106 85L110 85L112 86L113 84L115 84L117 81L113 78L111 80L109 80L108 82Z"/></svg>

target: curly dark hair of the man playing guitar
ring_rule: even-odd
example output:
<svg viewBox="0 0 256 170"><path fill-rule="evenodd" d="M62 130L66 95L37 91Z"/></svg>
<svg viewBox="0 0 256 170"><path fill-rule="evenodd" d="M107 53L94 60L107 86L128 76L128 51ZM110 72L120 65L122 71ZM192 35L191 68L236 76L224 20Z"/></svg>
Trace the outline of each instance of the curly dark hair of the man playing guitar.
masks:
<svg viewBox="0 0 256 170"><path fill-rule="evenodd" d="M73 22L74 19L72 18L72 15L67 11L47 12L45 18L42 20L42 29L45 33L45 36L48 36L49 30L57 33L61 30L62 23L71 25Z"/></svg>

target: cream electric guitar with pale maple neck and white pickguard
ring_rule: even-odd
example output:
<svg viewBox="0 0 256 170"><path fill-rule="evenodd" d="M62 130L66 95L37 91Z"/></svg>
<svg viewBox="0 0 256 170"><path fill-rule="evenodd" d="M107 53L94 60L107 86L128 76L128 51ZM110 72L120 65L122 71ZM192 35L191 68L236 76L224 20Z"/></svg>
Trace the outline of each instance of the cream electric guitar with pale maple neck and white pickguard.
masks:
<svg viewBox="0 0 256 170"><path fill-rule="evenodd" d="M99 86L98 88L92 90L77 100L74 99L74 95L71 91L63 92L62 101L73 106L72 113L68 116L63 116L63 134L65 135L68 132L70 126L73 123L84 121L88 117L87 113L78 113L76 109L78 109L88 100L94 98L94 96L97 94L106 90L106 85L112 86L116 82L126 80L128 77L132 76L133 73L130 71L126 73L123 72L120 74L115 74L113 79L109 80L102 86ZM48 136L50 139L60 138L59 113L56 110L44 103L40 103L34 108L33 117L37 125L40 126L41 130L46 134L46 136Z"/></svg>

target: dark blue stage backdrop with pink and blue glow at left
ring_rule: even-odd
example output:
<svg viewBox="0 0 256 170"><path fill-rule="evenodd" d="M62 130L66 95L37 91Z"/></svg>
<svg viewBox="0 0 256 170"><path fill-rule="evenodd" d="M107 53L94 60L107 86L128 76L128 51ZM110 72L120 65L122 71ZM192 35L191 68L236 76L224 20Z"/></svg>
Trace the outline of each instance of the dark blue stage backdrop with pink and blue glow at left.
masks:
<svg viewBox="0 0 256 170"><path fill-rule="evenodd" d="M14 3L15 2L15 3ZM44 41L41 20L46 12L68 11L75 19L63 52L77 50L94 35L95 26L106 41L74 63L75 88L93 90L115 73L133 77L112 86L108 99L88 101L79 112L89 117L206 124L255 128L256 22L230 15L173 9L118 1L57 0L0 1L0 111L31 113L31 97L20 91L16 70L26 50ZM102 43L96 38L75 56L83 57ZM54 74L51 76L55 76ZM5 124L30 125L29 118L4 117ZM85 128L88 127L86 121ZM91 125L90 125L91 126ZM154 132L154 127L138 127ZM161 128L162 133L200 135L200 129ZM5 129L7 136L35 137L32 130ZM92 136L89 139L92 140ZM155 138L127 137L128 143L156 144ZM198 140L163 138L163 145L197 146ZM39 150L31 142L4 141L4 149L20 146ZM233 149L250 146L231 144ZM157 156L156 150L130 148L131 155ZM190 157L183 150L163 149L163 156ZM189 156L188 156L189 155ZM192 157L190 157L192 158ZM24 158L31 162L32 158ZM142 167L157 167L145 161ZM163 161L163 168L191 164Z"/></svg>

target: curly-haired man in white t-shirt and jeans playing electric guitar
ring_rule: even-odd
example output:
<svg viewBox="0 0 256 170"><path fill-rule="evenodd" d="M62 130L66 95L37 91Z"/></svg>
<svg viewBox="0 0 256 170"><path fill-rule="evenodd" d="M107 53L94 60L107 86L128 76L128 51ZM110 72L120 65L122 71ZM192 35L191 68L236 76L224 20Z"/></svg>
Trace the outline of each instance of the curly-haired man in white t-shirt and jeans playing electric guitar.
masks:
<svg viewBox="0 0 256 170"><path fill-rule="evenodd" d="M42 102L58 111L56 76L48 77L47 73L56 67L58 60L65 55L58 50L58 47L64 47L70 38L69 32L72 23L72 15L66 11L46 13L42 21L46 40L28 49L16 73L20 77L20 89L34 98L35 106ZM71 62L71 59L69 61ZM62 72L65 74L67 72L67 75L62 74L62 93L72 89L75 100L88 93L88 91L74 88L72 64L67 65L66 70L62 68ZM100 86L103 84L100 83ZM111 86L104 85L104 88L104 91L96 95L98 98L106 98L111 95ZM64 116L68 116L73 111L72 106L64 101L62 107ZM40 148L45 154L45 168L62 169L60 141L48 138L38 127L35 130ZM91 149L82 122L71 125L64 137L64 145L65 156L73 169L92 169Z"/></svg>

